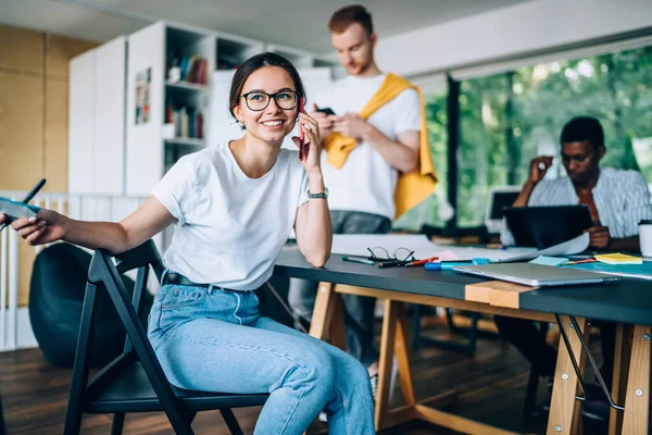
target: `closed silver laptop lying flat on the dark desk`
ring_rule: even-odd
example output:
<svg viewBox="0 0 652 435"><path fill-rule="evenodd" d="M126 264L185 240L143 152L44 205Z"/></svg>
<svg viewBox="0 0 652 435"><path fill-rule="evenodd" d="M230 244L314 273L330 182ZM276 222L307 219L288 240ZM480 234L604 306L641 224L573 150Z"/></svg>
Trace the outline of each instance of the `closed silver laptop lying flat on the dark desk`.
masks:
<svg viewBox="0 0 652 435"><path fill-rule="evenodd" d="M531 263L497 263L456 265L453 271L471 275L523 284L530 287L601 284L619 281L619 276Z"/></svg>

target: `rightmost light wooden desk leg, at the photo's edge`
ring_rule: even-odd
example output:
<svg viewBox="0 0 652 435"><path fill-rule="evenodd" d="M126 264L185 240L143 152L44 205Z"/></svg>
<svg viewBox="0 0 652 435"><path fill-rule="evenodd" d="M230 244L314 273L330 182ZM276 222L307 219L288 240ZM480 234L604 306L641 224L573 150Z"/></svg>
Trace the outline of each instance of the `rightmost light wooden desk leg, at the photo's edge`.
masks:
<svg viewBox="0 0 652 435"><path fill-rule="evenodd" d="M648 435L650 412L650 326L635 326L623 434Z"/></svg>

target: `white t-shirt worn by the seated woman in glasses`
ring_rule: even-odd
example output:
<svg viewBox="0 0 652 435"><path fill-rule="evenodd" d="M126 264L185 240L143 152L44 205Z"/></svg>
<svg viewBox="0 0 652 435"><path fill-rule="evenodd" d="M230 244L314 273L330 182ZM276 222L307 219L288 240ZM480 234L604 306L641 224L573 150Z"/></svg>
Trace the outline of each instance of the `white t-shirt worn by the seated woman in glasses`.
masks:
<svg viewBox="0 0 652 435"><path fill-rule="evenodd" d="M166 269L199 284L253 290L308 201L308 174L297 151L281 149L260 178L249 178L228 142L188 154L165 174L154 195L177 220Z"/></svg>

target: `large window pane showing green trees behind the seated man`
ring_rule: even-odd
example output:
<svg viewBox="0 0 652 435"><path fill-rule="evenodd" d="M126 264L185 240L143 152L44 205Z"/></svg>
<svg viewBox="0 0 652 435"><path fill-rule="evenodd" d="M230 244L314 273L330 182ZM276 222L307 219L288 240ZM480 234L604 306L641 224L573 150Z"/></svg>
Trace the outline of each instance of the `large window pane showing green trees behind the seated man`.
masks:
<svg viewBox="0 0 652 435"><path fill-rule="evenodd" d="M482 223L490 187L521 185L534 157L559 157L573 116L602 123L602 166L640 170L652 183L652 47L540 63L460 88L460 227ZM557 158L549 176L562 175Z"/></svg>

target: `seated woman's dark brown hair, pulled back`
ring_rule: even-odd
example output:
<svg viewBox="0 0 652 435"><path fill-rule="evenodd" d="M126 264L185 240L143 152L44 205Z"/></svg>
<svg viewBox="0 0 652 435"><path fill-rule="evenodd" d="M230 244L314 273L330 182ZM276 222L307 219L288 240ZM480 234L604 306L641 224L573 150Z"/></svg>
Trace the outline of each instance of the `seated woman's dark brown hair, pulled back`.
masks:
<svg viewBox="0 0 652 435"><path fill-rule="evenodd" d="M236 114L234 113L234 108L240 102L240 97L242 96L242 88L244 88L244 83L251 74L264 66L278 66L287 71L290 77L292 78L292 82L294 82L294 90L297 91L298 97L305 98L303 82L301 82L301 77L299 76L299 73L297 72L294 65L292 65L292 62L288 61L283 55L271 53L267 51L265 53L260 53L247 59L244 62L242 62L242 64L234 74L234 79L231 80L231 89L228 97L228 110L231 116L236 117Z"/></svg>

